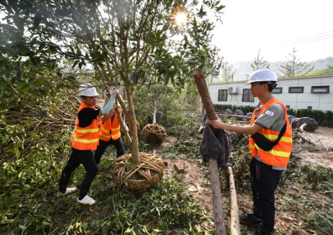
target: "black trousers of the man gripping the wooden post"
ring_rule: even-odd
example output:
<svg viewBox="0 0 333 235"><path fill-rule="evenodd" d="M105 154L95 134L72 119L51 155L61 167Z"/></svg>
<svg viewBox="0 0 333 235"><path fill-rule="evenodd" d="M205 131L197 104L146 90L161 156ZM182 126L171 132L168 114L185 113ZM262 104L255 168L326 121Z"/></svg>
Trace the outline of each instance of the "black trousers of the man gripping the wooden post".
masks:
<svg viewBox="0 0 333 235"><path fill-rule="evenodd" d="M250 177L253 195L253 214L261 218L260 232L269 234L273 232L275 220L274 192L278 187L282 171L273 170L254 157L250 160Z"/></svg>

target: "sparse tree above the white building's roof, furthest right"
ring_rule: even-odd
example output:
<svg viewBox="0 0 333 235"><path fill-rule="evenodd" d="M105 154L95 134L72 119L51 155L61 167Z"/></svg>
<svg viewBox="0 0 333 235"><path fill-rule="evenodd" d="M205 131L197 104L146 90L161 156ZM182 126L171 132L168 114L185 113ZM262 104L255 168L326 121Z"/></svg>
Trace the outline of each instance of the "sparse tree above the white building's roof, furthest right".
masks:
<svg viewBox="0 0 333 235"><path fill-rule="evenodd" d="M300 73L309 73L314 69L314 66L310 67L310 64L306 64L305 62L300 62L300 59L296 57L296 49L293 48L293 51L289 53L289 58L287 58L287 62L281 65L281 69L279 71L282 73L282 78L294 78L296 75Z"/></svg>

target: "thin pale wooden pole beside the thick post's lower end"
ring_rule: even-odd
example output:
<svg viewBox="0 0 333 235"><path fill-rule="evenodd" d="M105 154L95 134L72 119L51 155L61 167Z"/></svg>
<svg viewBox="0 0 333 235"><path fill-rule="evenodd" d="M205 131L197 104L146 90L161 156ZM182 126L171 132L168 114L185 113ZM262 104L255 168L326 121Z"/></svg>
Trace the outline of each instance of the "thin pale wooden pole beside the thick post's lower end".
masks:
<svg viewBox="0 0 333 235"><path fill-rule="evenodd" d="M237 204L236 185L234 184L234 174L232 173L231 166L228 167L229 180L230 180L230 198L231 198L231 235L241 235L241 228L239 225L239 211Z"/></svg>

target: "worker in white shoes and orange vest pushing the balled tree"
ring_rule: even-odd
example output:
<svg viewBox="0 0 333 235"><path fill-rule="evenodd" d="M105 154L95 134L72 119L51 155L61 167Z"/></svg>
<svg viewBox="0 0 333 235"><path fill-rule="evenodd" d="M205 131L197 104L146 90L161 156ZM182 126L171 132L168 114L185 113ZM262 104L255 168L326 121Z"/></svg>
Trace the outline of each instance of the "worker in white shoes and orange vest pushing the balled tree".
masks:
<svg viewBox="0 0 333 235"><path fill-rule="evenodd" d="M96 97L99 95L96 88L90 83L80 85L78 95L82 99L76 117L76 127L71 141L71 156L60 176L59 191L67 195L76 191L76 187L67 188L71 173L83 164L85 167L85 178L80 186L80 194L77 201L80 204L89 206L96 204L96 201L87 195L90 185L96 176L99 167L97 166L92 150L99 146L99 116L110 112L117 94L115 87L110 87L110 98L102 109L96 109Z"/></svg>

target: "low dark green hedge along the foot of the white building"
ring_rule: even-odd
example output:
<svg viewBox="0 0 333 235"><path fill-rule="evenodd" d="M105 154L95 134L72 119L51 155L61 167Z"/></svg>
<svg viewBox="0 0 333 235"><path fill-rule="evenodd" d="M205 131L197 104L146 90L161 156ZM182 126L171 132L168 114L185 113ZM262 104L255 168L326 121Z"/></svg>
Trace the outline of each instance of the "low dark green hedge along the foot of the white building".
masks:
<svg viewBox="0 0 333 235"><path fill-rule="evenodd" d="M244 112L244 115L248 112L253 112L255 107L253 106L237 106L237 105L214 105L216 111L224 111L226 109L230 109L234 112L234 110L241 110ZM297 117L309 117L317 121L317 123L321 126L325 126L327 128L333 128L333 112L332 111L323 111L323 110L293 110L289 109L287 111L288 115L293 115Z"/></svg>

